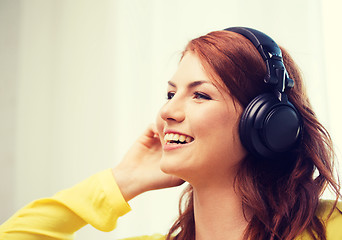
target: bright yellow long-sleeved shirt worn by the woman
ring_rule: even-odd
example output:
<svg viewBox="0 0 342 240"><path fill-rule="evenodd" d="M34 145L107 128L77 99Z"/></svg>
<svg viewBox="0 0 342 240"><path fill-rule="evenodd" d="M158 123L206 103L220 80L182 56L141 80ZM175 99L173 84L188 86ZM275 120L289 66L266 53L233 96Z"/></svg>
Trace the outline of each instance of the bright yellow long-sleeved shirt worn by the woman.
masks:
<svg viewBox="0 0 342 240"><path fill-rule="evenodd" d="M331 201L322 201L317 215L325 219L331 204ZM338 208L342 209L341 203ZM0 239L71 240L86 224L101 231L112 231L117 219L130 210L108 169L51 198L36 200L22 208L0 226ZM327 234L328 240L342 240L342 212L338 209L327 222ZM310 239L305 233L297 238ZM126 240L165 240L165 236L155 234Z"/></svg>

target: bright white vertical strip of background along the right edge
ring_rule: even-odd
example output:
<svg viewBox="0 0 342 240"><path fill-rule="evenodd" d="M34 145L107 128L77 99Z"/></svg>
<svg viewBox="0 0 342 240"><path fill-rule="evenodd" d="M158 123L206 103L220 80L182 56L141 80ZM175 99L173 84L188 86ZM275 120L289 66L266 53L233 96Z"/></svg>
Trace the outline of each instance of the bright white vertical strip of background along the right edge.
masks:
<svg viewBox="0 0 342 240"><path fill-rule="evenodd" d="M322 4L322 25L323 25L323 56L325 75L321 80L326 83L326 116L328 130L335 142L335 148L340 162L340 176L342 177L342 111L341 111L341 39L342 32L339 31L339 25L342 23L340 13L342 2L338 0L324 1ZM313 90L315 95L319 94ZM314 94L313 94L314 95Z"/></svg>

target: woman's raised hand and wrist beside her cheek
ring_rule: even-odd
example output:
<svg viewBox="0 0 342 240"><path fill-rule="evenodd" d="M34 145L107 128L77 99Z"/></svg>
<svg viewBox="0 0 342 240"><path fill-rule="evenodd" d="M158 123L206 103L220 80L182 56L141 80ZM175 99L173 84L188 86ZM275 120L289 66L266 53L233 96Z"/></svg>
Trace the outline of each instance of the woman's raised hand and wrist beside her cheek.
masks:
<svg viewBox="0 0 342 240"><path fill-rule="evenodd" d="M113 174L126 201L154 189L181 185L184 181L163 173L159 162L162 146L155 126L151 124L128 150Z"/></svg>

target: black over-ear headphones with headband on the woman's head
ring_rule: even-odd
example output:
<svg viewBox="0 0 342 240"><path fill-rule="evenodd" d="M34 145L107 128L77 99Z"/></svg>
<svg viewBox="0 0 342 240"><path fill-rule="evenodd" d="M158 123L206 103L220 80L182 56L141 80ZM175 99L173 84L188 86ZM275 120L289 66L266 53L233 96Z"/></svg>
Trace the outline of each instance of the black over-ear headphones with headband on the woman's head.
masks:
<svg viewBox="0 0 342 240"><path fill-rule="evenodd" d="M266 34L251 28L224 29L249 39L264 59L264 78L271 91L256 96L244 110L239 134L244 147L257 158L275 159L286 155L298 143L302 132L300 114L285 94L294 81L285 69L279 46Z"/></svg>

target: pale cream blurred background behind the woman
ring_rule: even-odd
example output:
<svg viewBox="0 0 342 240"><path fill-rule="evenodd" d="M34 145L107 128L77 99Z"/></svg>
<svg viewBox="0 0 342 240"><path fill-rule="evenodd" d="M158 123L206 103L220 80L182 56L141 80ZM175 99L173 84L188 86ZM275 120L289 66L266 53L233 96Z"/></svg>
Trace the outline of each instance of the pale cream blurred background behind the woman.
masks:
<svg viewBox="0 0 342 240"><path fill-rule="evenodd" d="M230 26L264 31L292 54L341 161L341 9L339 0L0 0L0 224L115 166L154 122L186 43ZM181 191L141 195L114 232L87 226L76 239L165 233Z"/></svg>

